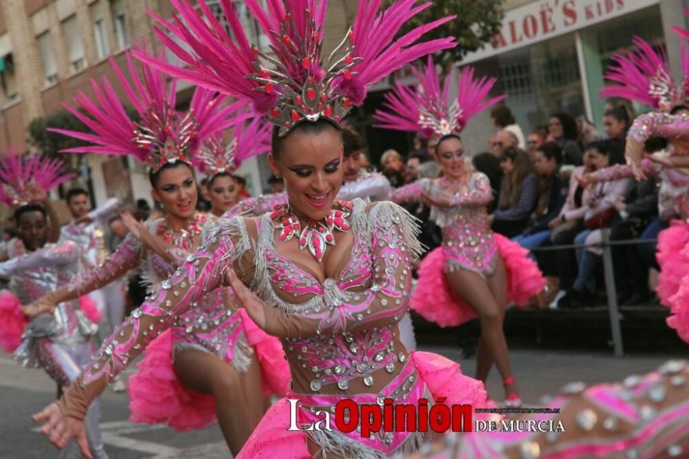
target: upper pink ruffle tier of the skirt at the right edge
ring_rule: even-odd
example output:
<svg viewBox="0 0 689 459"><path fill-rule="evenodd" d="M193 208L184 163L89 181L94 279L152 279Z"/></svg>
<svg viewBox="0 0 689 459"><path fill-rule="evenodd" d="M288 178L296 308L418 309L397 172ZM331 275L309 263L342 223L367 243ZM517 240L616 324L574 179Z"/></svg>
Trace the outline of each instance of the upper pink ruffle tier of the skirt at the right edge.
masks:
<svg viewBox="0 0 689 459"><path fill-rule="evenodd" d="M674 221L658 234L656 259L660 265L658 286L655 291L663 305L670 307L670 298L679 292L682 278L689 267L689 253L684 250L689 242L689 225Z"/></svg>

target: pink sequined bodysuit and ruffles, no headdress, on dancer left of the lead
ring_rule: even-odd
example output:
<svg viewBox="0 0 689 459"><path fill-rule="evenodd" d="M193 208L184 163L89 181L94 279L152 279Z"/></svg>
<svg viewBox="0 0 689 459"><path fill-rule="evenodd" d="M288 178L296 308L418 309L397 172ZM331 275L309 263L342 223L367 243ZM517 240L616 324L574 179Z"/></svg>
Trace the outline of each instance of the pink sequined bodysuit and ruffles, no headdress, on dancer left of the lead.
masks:
<svg viewBox="0 0 689 459"><path fill-rule="evenodd" d="M123 276L136 266L141 266L143 281L149 293L166 285L167 278L176 266L184 263L192 253L192 238L212 227L218 218L196 214L187 230L175 233L167 229L164 218L147 223L151 234L172 245L168 253L176 260L169 263L162 256L146 250L140 241L127 235L115 254L103 265L85 277L75 278L70 285L79 292L104 285ZM243 374L249 368L254 349L260 346L258 360L262 364L263 391L265 395L284 395L287 391L289 372L280 357L282 351L275 338L266 334L256 336L256 325L240 314L232 301L231 289L218 289L200 298L194 307L174 318L174 325L166 336L161 336L147 351L138 365L138 374L130 377L130 411L136 422L167 423L179 431L207 427L216 420L213 397L185 388L178 382L172 362L174 354L184 349L195 349L218 356ZM247 340L247 330L252 340ZM171 380L165 375L170 374ZM162 403L166 400L167 403Z"/></svg>

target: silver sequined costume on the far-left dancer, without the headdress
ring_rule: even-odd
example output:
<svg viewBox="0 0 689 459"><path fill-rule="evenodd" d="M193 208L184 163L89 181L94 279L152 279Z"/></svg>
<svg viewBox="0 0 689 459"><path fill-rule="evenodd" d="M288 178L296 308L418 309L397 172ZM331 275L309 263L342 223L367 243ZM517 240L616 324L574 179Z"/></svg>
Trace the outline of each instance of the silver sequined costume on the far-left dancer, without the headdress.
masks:
<svg viewBox="0 0 689 459"><path fill-rule="evenodd" d="M60 387L68 387L88 363L93 347L90 338L98 327L79 309L76 301L59 303L52 314L34 316L30 322L17 316L21 304L29 304L68 283L78 270L79 248L72 242L45 244L43 248L0 263L0 276L10 278L9 291L0 294L0 314L14 314L25 325L21 342L14 343L14 360L25 367L41 367ZM12 310L13 309L13 310ZM4 320L3 320L4 321ZM10 326L8 322L4 326ZM3 330L6 332L6 330ZM3 338L6 335L3 333ZM3 339L6 351L11 348ZM107 458L99 430L100 405L96 400L85 418L91 451ZM61 457L67 457L65 449Z"/></svg>

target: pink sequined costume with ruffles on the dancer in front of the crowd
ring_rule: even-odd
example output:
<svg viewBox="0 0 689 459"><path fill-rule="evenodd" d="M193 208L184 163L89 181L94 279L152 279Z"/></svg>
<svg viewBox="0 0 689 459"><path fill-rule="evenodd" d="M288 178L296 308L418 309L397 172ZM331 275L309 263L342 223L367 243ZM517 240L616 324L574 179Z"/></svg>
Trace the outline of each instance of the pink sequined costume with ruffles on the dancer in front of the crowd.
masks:
<svg viewBox="0 0 689 459"><path fill-rule="evenodd" d="M526 305L542 290L544 278L526 250L491 231L486 205L493 199L493 191L485 174L474 172L460 181L421 179L394 190L391 198L398 203L420 201L422 191L449 197L452 207L431 209L443 241L420 265L412 309L441 327L477 318L464 300L451 293L443 273L466 269L487 278L493 274L497 256L502 257L507 271L510 300Z"/></svg>

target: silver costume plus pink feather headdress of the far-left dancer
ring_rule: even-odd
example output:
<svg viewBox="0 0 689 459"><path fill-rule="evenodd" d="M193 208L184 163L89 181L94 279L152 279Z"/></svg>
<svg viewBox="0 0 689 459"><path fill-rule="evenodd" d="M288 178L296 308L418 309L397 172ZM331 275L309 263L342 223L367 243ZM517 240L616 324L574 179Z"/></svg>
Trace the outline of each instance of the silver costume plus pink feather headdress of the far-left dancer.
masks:
<svg viewBox="0 0 689 459"><path fill-rule="evenodd" d="M61 161L41 156L9 154L0 158L0 199L15 210L31 201L30 187L50 192L71 179ZM9 278L8 289L0 292L0 346L14 353L24 367L41 367L61 388L68 387L88 363L100 313L88 298L65 301L51 314L27 320L21 305L31 303L60 285L79 270L80 251L74 243L47 243L0 263L0 277ZM100 406L96 400L85 418L89 445L96 458L107 458L99 429ZM67 450L63 453L65 456ZM62 456L61 456L62 457Z"/></svg>

